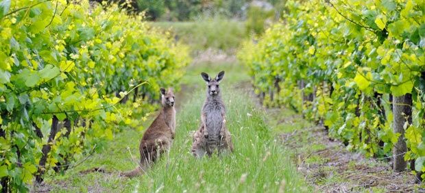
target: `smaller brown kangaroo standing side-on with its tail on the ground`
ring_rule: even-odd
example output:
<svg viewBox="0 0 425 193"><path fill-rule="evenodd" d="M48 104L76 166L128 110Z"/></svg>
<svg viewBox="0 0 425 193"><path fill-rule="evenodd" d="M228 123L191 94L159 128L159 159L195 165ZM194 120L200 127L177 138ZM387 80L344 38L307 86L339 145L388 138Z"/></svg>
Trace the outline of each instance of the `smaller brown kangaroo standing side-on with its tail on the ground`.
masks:
<svg viewBox="0 0 425 193"><path fill-rule="evenodd" d="M141 153L140 166L130 172L122 172L121 176L134 177L145 173L147 168L169 151L175 136L175 108L172 88L166 92L160 88L162 110L154 122L143 134L139 150Z"/></svg>

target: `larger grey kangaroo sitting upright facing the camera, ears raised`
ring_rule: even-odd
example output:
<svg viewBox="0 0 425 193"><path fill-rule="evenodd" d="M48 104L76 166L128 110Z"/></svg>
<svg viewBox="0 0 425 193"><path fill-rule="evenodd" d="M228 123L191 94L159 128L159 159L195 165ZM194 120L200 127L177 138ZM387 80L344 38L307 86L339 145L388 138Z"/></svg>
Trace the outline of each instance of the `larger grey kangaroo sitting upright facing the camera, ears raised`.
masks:
<svg viewBox="0 0 425 193"><path fill-rule="evenodd" d="M201 112L201 125L193 134L192 153L195 157L211 156L215 150L221 153L228 149L233 152L232 138L226 129L226 107L221 100L219 82L224 77L221 71L215 79L201 73L206 81L206 100Z"/></svg>

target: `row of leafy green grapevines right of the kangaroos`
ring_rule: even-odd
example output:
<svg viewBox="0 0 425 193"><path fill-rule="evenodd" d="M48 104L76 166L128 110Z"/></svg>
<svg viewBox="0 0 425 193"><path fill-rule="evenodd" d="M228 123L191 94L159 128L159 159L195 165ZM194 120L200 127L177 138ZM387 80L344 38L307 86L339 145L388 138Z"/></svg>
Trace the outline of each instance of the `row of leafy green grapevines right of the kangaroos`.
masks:
<svg viewBox="0 0 425 193"><path fill-rule="evenodd" d="M348 149L379 157L391 155L400 135L391 129L390 98L412 94L415 114L413 124L405 125L404 158L425 170L425 2L312 0L286 6L282 23L239 52L265 103L291 105L322 121ZM269 91L278 92L274 101ZM301 104L307 94L314 100Z"/></svg>

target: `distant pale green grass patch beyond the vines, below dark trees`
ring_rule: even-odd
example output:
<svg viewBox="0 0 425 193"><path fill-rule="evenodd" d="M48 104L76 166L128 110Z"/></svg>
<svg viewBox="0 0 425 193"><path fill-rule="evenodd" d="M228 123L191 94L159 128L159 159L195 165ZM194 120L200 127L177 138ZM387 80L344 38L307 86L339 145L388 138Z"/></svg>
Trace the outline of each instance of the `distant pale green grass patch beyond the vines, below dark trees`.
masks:
<svg viewBox="0 0 425 193"><path fill-rule="evenodd" d="M229 51L239 47L246 38L245 24L222 18L204 18L187 22L151 22L153 27L170 30L193 51L220 49Z"/></svg>

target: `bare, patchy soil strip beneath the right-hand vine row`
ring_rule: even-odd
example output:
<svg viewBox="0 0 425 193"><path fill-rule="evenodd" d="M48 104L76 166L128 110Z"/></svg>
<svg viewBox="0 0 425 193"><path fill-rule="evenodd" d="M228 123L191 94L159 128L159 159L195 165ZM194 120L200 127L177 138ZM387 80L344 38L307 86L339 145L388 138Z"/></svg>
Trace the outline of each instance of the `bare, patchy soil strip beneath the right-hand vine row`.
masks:
<svg viewBox="0 0 425 193"><path fill-rule="evenodd" d="M268 109L277 124L293 125L306 121L300 115L278 116L281 109ZM279 136L315 192L424 192L409 171L393 172L386 159L367 158L348 151L337 140L330 140L324 127L295 129Z"/></svg>

